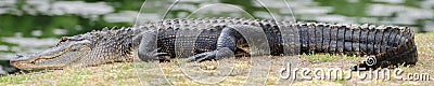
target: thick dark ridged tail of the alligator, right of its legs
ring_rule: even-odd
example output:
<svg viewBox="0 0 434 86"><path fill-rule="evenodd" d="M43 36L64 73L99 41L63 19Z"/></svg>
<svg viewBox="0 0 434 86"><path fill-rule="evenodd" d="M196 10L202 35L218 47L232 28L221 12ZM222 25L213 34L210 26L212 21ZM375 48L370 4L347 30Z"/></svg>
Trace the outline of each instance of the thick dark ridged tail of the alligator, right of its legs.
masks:
<svg viewBox="0 0 434 86"><path fill-rule="evenodd" d="M414 34L407 27L299 24L297 29L302 53L375 56L376 63L369 68L418 61Z"/></svg>

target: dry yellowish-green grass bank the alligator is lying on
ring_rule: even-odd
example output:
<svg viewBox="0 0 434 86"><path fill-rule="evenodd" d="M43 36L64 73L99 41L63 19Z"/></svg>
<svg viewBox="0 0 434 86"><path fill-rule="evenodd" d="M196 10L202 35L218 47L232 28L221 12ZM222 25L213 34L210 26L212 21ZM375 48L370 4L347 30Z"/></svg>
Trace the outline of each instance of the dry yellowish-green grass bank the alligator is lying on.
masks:
<svg viewBox="0 0 434 86"><path fill-rule="evenodd" d="M419 61L412 67L398 67L405 73L427 73L434 75L434 33L417 33ZM265 60L265 61L264 61ZM10 74L0 77L0 85L202 85L199 82L217 82L217 85L244 85L244 84L290 84L282 81L278 72L289 60L282 57L260 57L222 59L218 62L206 61L200 64L182 62L122 62L102 64L88 68L66 68L63 70L37 70L28 73ZM304 54L301 55L299 64L309 68L349 68L362 60L360 57L330 54ZM272 61L272 62L269 62ZM205 66L205 67L204 67ZM209 66L209 67L206 67ZM217 69L215 68L217 67ZM267 68L261 68L267 67ZM206 68L206 69L199 69ZM257 68L257 69L256 69ZM255 71L266 71L255 72ZM268 71L268 72L267 72ZM205 72L205 73L203 73ZM227 74L225 72L231 72ZM365 72L366 73L366 72ZM344 73L343 75L357 73ZM196 76L196 77L194 77ZM202 76L202 77L201 77ZM213 78L215 77L215 78ZM432 85L431 81L397 81L391 76L386 80L358 80L353 77L345 80L297 80L293 85ZM218 80L224 80L219 82ZM258 82L250 82L258 81ZM265 81L265 82L261 82Z"/></svg>

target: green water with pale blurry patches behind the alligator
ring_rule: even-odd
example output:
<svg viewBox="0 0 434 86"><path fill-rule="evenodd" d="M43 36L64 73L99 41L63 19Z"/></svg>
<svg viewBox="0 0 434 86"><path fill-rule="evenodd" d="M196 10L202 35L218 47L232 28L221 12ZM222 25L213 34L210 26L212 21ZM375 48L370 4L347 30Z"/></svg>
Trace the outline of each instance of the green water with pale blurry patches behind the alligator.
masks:
<svg viewBox="0 0 434 86"><path fill-rule="evenodd" d="M113 26L132 26L144 0L1 0L0 60L16 53L36 53L55 45L60 37ZM140 22L158 20L174 1L148 0ZM214 3L225 4L214 4ZM328 23L408 26L434 31L433 0L181 0L165 16L255 17ZM266 6L266 8L264 8ZM288 8L291 6L291 10ZM270 15L270 13L272 15ZM293 17L294 14L294 17ZM139 22L139 23L140 23ZM11 71L7 61L0 69ZM0 71L0 73L5 73Z"/></svg>

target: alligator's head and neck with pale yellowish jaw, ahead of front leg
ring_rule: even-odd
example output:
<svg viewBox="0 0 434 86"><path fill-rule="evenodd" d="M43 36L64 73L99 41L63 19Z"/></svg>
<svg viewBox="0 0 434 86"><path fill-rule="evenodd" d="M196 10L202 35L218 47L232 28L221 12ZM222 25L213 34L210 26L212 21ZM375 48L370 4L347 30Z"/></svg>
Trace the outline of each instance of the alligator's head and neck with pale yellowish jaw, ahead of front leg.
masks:
<svg viewBox="0 0 434 86"><path fill-rule="evenodd" d="M62 69L131 61L130 29L92 31L64 37L56 46L28 56L16 55L11 63L18 69Z"/></svg>

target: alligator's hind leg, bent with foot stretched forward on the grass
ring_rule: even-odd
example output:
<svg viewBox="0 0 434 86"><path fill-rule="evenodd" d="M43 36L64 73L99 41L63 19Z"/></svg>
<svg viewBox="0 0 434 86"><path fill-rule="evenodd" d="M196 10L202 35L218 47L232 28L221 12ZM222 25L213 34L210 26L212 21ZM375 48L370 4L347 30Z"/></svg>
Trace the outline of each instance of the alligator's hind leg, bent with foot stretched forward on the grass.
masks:
<svg viewBox="0 0 434 86"><path fill-rule="evenodd" d="M189 57L188 61L204 61L212 59L221 59L229 57L235 53L237 40L240 40L240 33L234 27L225 27L217 40L217 48L212 52L206 52Z"/></svg>

